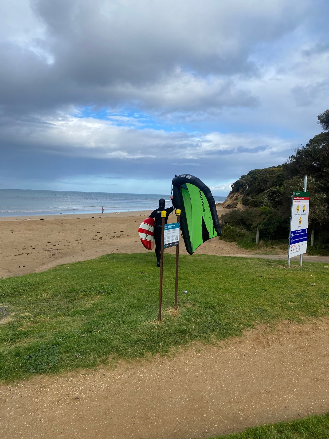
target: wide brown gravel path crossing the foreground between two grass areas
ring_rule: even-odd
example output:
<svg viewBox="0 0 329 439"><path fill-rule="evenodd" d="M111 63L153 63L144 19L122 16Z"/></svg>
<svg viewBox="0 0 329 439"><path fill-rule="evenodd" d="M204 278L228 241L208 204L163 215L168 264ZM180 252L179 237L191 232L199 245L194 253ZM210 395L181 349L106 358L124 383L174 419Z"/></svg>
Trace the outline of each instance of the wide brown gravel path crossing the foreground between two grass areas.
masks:
<svg viewBox="0 0 329 439"><path fill-rule="evenodd" d="M329 411L329 318L219 347L0 386L1 437L206 438Z"/></svg>

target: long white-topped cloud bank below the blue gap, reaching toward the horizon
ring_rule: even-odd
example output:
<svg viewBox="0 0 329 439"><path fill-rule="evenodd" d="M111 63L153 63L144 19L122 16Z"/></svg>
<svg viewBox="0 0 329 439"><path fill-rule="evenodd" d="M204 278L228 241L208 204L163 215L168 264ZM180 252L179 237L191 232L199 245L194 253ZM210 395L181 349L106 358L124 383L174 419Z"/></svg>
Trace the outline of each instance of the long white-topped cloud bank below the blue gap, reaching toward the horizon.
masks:
<svg viewBox="0 0 329 439"><path fill-rule="evenodd" d="M232 180L259 168L259 161L263 166L284 162L296 146L264 135L168 133L92 118L62 117L44 124L29 121L25 129L21 122L18 125L19 129L8 125L1 133L0 175L5 179L1 184L13 176L30 187L29 182L36 179L43 182L82 176L83 180L99 175L104 180L170 180L175 173L197 173L211 181ZM261 146L254 147L255 143Z"/></svg>

